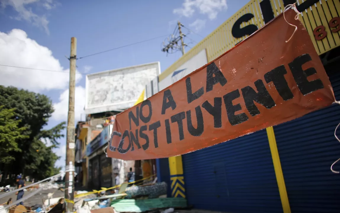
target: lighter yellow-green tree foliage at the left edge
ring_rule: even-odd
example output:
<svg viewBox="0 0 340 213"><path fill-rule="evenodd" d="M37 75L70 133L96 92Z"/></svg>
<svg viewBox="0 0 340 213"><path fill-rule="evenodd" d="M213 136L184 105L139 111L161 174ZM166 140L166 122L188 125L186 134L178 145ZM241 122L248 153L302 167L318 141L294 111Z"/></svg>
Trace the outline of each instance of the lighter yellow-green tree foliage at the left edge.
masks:
<svg viewBox="0 0 340 213"><path fill-rule="evenodd" d="M28 138L22 135L26 127L18 127L20 120L15 120L15 109L4 109L0 106L0 163L11 163L15 158L10 155L11 151L21 152L18 140Z"/></svg>

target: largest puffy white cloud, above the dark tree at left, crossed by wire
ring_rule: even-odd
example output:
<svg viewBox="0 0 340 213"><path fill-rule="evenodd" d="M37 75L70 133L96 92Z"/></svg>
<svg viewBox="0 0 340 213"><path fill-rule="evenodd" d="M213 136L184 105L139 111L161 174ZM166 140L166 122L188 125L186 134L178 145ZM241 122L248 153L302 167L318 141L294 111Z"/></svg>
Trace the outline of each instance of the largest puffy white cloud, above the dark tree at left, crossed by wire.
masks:
<svg viewBox="0 0 340 213"><path fill-rule="evenodd" d="M69 72L53 57L52 51L27 37L26 32L13 29L9 33L0 32L0 64L30 67L34 69L65 72L28 70L0 66L0 85L16 86L34 92L68 87ZM78 82L81 74L76 75Z"/></svg>

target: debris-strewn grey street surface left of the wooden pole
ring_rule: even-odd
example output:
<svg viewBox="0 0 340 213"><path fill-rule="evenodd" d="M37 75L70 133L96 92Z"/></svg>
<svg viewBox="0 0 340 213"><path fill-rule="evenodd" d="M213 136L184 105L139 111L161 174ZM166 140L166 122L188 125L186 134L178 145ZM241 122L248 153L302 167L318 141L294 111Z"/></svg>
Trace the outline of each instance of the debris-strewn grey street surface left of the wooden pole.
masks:
<svg viewBox="0 0 340 213"><path fill-rule="evenodd" d="M34 192L34 191L32 191ZM23 195L24 197L29 195L32 192L25 192L25 194ZM53 197L64 197L64 192L57 190L56 189L48 189L48 190L41 190L40 192L38 192L37 194L35 194L34 196L28 198L27 200L24 201L24 206L34 206L35 204L43 204L43 200L47 199L47 194L48 193L54 193ZM0 192L0 195L7 193L7 192ZM12 197L12 202L16 201L17 196L15 195L15 193L9 194L6 197L3 197L0 199L0 204L3 204L5 202L7 202L8 199L10 199L10 197Z"/></svg>

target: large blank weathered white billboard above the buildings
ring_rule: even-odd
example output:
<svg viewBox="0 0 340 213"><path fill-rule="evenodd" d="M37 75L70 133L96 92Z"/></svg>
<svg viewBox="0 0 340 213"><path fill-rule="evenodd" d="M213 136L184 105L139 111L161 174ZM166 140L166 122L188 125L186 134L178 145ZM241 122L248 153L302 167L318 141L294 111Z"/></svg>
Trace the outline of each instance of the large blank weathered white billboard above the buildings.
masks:
<svg viewBox="0 0 340 213"><path fill-rule="evenodd" d="M145 85L160 74L153 62L86 75L85 113L123 111L134 105Z"/></svg>

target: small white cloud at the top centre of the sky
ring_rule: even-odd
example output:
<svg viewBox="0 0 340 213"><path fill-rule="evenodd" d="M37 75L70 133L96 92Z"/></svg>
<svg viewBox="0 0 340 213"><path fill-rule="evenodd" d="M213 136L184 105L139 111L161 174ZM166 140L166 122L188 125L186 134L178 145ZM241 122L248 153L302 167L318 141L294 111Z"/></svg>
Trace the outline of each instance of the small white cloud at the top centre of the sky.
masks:
<svg viewBox="0 0 340 213"><path fill-rule="evenodd" d="M222 9L227 9L227 2L226 0L184 0L182 7L174 9L173 13L191 17L195 13L195 9L213 20Z"/></svg>

